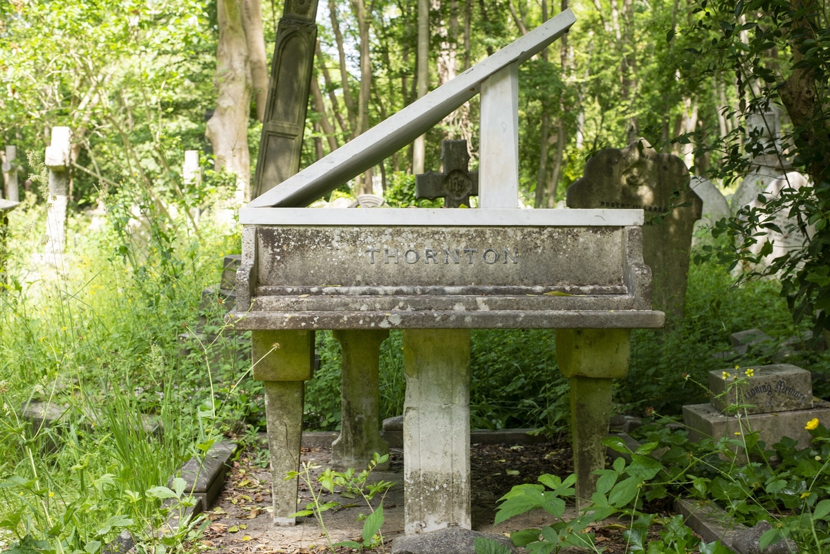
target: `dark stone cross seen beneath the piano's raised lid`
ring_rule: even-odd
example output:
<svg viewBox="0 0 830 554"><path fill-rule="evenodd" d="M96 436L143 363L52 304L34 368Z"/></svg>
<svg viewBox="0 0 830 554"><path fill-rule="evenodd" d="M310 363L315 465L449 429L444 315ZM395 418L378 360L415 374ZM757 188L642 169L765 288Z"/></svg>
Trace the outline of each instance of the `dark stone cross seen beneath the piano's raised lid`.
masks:
<svg viewBox="0 0 830 554"><path fill-rule="evenodd" d="M470 197L478 196L478 172L467 170L470 154L466 140L445 140L441 143L444 173L427 172L415 176L415 197L444 198L444 207L470 206Z"/></svg>

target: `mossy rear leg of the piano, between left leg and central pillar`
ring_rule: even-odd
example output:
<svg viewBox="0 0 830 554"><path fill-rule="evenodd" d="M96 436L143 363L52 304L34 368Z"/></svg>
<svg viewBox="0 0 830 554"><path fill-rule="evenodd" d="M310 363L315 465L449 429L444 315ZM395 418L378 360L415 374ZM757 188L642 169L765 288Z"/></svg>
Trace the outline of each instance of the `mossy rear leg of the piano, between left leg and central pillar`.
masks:
<svg viewBox="0 0 830 554"><path fill-rule="evenodd" d="M380 391L378 348L389 336L383 329L334 331L340 343L343 419L340 436L331 445L335 469L362 469L372 454L389 453L389 443L380 436ZM378 467L388 468L386 462Z"/></svg>

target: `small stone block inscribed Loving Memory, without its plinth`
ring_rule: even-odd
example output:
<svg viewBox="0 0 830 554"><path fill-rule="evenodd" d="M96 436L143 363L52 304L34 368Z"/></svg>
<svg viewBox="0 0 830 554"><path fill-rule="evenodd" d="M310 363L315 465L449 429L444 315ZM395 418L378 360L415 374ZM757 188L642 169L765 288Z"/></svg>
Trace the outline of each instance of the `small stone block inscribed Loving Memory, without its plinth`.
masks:
<svg viewBox="0 0 830 554"><path fill-rule="evenodd" d="M725 411L727 406L737 404L746 406L740 409L741 413L749 414L813 407L813 377L806 369L789 363L758 366L752 368L752 377L746 377L748 369L709 372L712 406ZM734 385L732 383L735 377L745 378L748 382L745 385Z"/></svg>

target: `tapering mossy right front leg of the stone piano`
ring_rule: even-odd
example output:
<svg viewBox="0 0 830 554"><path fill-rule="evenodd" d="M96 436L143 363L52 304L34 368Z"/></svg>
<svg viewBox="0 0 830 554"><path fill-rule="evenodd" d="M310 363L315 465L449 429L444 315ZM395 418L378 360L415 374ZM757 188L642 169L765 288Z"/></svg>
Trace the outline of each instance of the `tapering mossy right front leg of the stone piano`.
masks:
<svg viewBox="0 0 830 554"><path fill-rule="evenodd" d="M577 508L590 503L597 490L593 471L605 467L603 438L611 419L612 379L625 377L631 352L630 329L559 329L559 371L570 379L571 432Z"/></svg>

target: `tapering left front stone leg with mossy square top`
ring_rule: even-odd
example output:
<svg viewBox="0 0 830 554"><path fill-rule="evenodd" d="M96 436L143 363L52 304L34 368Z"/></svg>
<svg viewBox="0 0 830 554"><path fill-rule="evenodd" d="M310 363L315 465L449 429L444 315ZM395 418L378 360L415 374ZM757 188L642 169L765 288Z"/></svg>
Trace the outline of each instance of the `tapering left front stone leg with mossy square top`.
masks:
<svg viewBox="0 0 830 554"><path fill-rule="evenodd" d="M314 331L251 332L253 377L265 381L268 450L275 525L294 525L303 433L303 387L314 371Z"/></svg>

